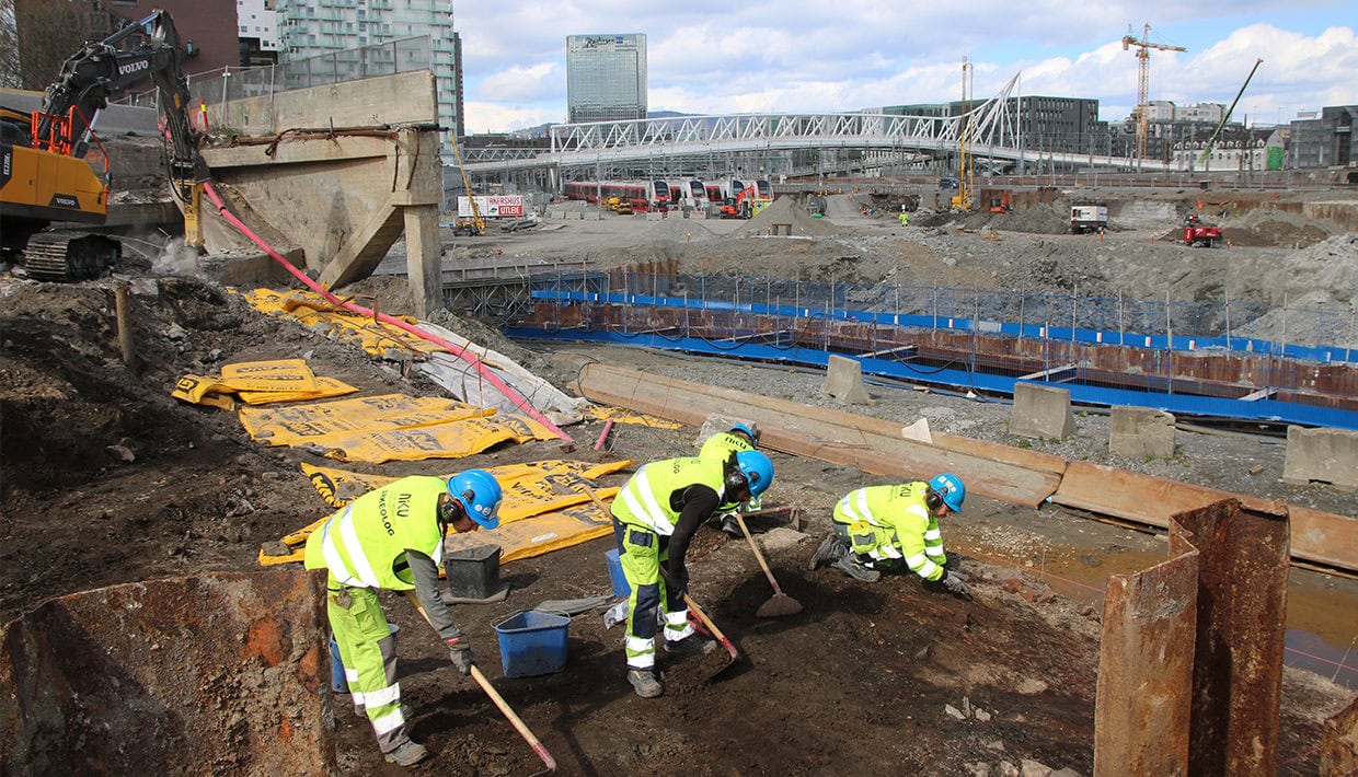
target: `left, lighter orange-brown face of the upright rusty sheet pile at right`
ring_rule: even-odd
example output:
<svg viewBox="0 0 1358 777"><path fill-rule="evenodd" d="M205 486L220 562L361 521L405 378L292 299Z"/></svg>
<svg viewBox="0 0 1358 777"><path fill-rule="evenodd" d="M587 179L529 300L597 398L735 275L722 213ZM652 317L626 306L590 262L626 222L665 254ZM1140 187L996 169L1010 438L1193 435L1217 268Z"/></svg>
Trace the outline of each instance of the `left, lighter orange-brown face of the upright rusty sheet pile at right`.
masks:
<svg viewBox="0 0 1358 777"><path fill-rule="evenodd" d="M1115 575L1104 595L1096 777L1187 774L1198 555Z"/></svg>

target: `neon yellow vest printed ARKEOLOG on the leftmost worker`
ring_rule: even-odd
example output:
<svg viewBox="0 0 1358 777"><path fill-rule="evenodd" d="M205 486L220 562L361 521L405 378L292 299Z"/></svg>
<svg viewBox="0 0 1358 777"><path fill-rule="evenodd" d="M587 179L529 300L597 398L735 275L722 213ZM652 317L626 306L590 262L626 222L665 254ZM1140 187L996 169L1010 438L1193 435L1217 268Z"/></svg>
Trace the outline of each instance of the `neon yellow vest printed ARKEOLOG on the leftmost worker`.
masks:
<svg viewBox="0 0 1358 777"><path fill-rule="evenodd" d="M406 551L418 551L439 563L443 494L447 494L444 480L426 475L402 477L364 494L307 537L306 568L327 568L346 586L414 589Z"/></svg>

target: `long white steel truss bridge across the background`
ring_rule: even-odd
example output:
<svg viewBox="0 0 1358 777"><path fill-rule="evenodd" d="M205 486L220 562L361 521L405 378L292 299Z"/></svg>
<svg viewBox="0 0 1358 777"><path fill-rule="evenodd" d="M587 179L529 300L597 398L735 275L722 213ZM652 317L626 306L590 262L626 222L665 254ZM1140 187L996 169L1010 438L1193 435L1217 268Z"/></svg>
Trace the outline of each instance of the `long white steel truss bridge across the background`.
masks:
<svg viewBox="0 0 1358 777"><path fill-rule="evenodd" d="M1009 100L1017 83L1016 75L995 96L955 117L732 114L568 123L551 126L549 152L477 148L464 149L463 160L467 172L478 176L540 168L562 174L573 168L641 165L679 170L722 156L797 149L862 149L930 157L957 153L966 140L974 157L1036 161L1039 152L1023 149L1020 117ZM1040 159L1058 165L1168 170L1160 160L1107 155L1042 152Z"/></svg>

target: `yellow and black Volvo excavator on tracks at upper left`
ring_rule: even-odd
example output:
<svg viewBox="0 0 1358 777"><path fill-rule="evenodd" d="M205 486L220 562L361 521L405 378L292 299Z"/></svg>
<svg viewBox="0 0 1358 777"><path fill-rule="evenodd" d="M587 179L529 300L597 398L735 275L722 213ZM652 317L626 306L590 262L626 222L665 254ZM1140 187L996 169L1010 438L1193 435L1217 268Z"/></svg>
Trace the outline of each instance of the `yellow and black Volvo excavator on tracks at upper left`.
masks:
<svg viewBox="0 0 1358 777"><path fill-rule="evenodd" d="M140 34L136 45L121 49ZM174 20L156 11L103 41L90 42L62 65L31 114L0 108L0 250L42 281L96 278L121 256L117 240L50 225L102 225L109 213L109 161L100 176L86 159L99 145L94 125L109 99L149 76L170 136L170 179L185 214L185 241L202 244L198 199L209 171L189 123L187 50Z"/></svg>

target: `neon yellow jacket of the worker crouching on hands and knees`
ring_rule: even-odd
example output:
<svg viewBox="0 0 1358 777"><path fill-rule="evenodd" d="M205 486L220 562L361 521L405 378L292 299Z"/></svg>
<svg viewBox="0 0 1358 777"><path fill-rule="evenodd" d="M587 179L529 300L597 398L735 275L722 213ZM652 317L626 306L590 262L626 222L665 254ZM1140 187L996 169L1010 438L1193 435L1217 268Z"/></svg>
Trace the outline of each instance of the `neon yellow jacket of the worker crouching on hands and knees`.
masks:
<svg viewBox="0 0 1358 777"><path fill-rule="evenodd" d="M854 553L873 560L904 559L911 572L937 580L948 556L938 519L925 503L928 494L929 484L922 480L860 488L835 504L834 521L849 526Z"/></svg>

